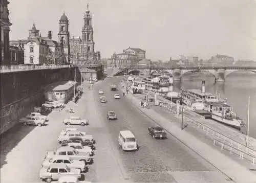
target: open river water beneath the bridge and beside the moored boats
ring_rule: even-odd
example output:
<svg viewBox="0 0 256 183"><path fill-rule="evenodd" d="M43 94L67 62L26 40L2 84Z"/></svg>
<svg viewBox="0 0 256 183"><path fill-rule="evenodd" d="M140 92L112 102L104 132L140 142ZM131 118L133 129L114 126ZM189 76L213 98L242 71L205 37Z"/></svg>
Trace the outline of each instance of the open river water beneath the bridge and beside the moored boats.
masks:
<svg viewBox="0 0 256 183"><path fill-rule="evenodd" d="M227 99L233 111L245 121L241 131L247 134L248 97L250 96L249 136L256 139L256 74L232 73L225 82L214 83L214 77L206 74L190 74L182 77L181 82L174 82L174 90L201 89L205 80L205 91L220 94L221 99Z"/></svg>

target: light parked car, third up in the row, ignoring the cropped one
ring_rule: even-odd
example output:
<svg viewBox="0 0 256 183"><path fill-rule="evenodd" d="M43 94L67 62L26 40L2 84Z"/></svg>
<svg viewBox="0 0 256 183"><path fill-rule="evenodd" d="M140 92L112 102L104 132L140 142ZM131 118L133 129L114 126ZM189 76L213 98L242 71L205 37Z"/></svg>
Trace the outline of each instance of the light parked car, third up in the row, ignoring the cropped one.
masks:
<svg viewBox="0 0 256 183"><path fill-rule="evenodd" d="M78 152L72 147L60 147L56 151L48 151L45 159L51 159L56 155L69 156L73 160L83 161L85 164L92 163L93 159L86 152Z"/></svg>

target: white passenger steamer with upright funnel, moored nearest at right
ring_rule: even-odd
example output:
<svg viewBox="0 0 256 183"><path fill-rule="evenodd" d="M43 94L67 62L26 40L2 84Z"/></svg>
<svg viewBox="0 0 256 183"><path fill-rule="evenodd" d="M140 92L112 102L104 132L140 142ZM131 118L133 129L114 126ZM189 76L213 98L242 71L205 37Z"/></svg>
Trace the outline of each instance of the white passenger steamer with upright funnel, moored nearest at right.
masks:
<svg viewBox="0 0 256 183"><path fill-rule="evenodd" d="M211 118L228 126L241 129L244 125L226 100L219 101L217 95L205 92L205 81L202 81L202 90L188 89L183 92L183 102L185 105L191 106L194 102L202 102L204 109L211 112Z"/></svg>

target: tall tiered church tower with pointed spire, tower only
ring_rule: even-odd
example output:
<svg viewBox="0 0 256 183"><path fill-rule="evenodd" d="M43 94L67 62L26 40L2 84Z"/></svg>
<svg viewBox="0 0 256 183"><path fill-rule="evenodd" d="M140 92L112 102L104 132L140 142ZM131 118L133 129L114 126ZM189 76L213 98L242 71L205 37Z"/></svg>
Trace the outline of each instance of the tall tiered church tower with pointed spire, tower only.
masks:
<svg viewBox="0 0 256 183"><path fill-rule="evenodd" d="M83 28L82 28L82 41L86 44L87 53L89 57L94 57L94 41L93 41L93 27L92 27L92 14L89 10L89 4L87 4L86 13L83 16ZM89 58L93 59L93 58Z"/></svg>

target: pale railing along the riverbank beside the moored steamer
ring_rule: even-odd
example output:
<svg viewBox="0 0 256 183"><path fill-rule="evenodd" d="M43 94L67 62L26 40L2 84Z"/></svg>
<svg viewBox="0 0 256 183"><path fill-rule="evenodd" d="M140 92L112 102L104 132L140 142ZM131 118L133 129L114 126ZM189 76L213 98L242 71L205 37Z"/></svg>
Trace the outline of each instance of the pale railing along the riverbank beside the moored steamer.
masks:
<svg viewBox="0 0 256 183"><path fill-rule="evenodd" d="M178 113L176 110L174 110L173 108L170 108L170 105L168 104L164 104L162 105L164 110L167 110L170 113L173 113L173 115L175 115L177 118L181 119L181 114ZM175 106L175 104L173 105ZM239 150L241 153L243 154L248 154L250 156L254 157L254 164L255 162L255 157L256 157L256 150L250 148L249 146L246 146L245 144L238 142L237 140L232 139L231 137L224 135L223 133L216 131L200 122L198 122L196 119L187 117L184 113L183 113L183 120L187 123L193 124L194 127L197 127L199 129L201 129L202 131L204 131L207 135L211 136L212 139L218 139L220 142L223 141L224 145L229 145L230 147ZM243 158L243 156L241 157Z"/></svg>

